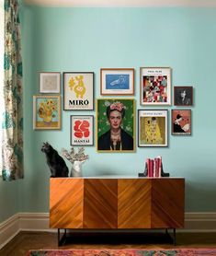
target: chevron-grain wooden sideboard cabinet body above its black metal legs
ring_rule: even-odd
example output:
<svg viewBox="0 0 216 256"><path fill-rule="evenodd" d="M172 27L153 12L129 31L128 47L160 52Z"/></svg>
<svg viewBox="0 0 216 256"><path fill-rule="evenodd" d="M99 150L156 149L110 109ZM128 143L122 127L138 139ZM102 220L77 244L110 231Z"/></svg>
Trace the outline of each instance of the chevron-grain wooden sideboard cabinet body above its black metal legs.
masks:
<svg viewBox="0 0 216 256"><path fill-rule="evenodd" d="M182 178L51 178L50 227L184 227Z"/></svg>

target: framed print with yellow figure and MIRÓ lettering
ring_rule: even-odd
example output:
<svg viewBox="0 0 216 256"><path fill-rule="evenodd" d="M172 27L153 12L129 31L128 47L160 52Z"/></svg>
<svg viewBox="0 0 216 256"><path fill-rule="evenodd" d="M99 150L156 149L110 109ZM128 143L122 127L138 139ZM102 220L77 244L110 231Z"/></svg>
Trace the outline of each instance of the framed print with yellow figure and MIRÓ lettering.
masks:
<svg viewBox="0 0 216 256"><path fill-rule="evenodd" d="M94 73L63 73L63 110L94 110Z"/></svg>

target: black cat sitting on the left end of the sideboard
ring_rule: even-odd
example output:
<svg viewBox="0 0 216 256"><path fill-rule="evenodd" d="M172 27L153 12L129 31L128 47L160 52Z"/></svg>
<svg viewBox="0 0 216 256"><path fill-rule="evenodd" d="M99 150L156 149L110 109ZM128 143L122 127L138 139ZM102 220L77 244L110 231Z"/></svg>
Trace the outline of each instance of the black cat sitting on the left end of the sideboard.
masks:
<svg viewBox="0 0 216 256"><path fill-rule="evenodd" d="M48 142L43 143L41 151L46 155L47 164L51 169L51 177L68 177L69 171L63 157L59 156L58 152Z"/></svg>

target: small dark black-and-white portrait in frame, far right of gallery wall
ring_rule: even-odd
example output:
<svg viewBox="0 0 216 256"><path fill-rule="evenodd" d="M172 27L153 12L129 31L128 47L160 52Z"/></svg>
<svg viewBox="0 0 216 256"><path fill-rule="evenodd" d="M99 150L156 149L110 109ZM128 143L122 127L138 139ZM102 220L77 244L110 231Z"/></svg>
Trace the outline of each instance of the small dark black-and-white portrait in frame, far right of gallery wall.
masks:
<svg viewBox="0 0 216 256"><path fill-rule="evenodd" d="M174 87L174 105L192 106L193 87Z"/></svg>

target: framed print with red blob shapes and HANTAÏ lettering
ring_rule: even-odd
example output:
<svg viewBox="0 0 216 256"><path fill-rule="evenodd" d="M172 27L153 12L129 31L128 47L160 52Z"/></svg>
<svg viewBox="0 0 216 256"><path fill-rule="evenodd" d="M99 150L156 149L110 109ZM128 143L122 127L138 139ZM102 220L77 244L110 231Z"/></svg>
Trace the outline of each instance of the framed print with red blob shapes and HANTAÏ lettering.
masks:
<svg viewBox="0 0 216 256"><path fill-rule="evenodd" d="M94 145L93 115L71 115L71 145Z"/></svg>

